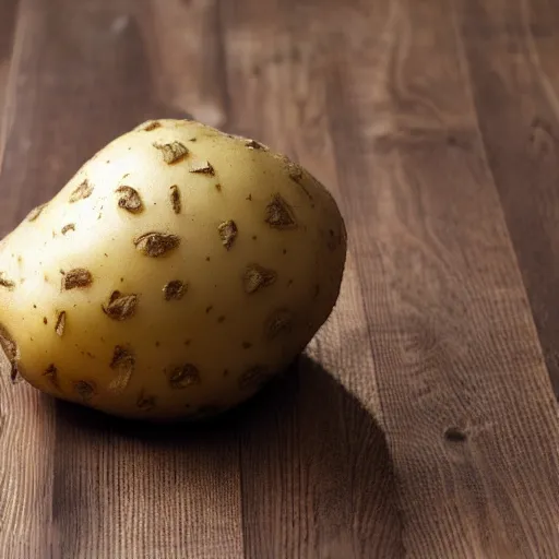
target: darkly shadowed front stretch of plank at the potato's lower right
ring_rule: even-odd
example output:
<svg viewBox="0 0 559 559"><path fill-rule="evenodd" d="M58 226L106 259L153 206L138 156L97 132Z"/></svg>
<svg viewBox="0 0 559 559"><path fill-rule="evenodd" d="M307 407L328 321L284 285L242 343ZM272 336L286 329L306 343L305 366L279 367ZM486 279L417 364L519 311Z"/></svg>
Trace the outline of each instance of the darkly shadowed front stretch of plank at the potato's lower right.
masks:
<svg viewBox="0 0 559 559"><path fill-rule="evenodd" d="M384 433L319 362L302 356L238 425L247 557L403 557Z"/></svg>

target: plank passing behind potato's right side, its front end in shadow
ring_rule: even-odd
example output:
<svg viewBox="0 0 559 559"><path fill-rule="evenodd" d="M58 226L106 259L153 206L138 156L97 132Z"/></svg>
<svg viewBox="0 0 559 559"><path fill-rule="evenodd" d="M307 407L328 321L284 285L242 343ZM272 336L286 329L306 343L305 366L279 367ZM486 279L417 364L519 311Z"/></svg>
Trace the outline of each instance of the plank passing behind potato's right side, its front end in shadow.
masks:
<svg viewBox="0 0 559 559"><path fill-rule="evenodd" d="M322 4L292 31L292 10L258 0L224 9L228 126L301 160L347 207L329 131L323 45L305 29L333 13ZM247 558L403 557L356 269L350 249L340 304L309 358L286 381L281 404L262 404L243 432Z"/></svg>

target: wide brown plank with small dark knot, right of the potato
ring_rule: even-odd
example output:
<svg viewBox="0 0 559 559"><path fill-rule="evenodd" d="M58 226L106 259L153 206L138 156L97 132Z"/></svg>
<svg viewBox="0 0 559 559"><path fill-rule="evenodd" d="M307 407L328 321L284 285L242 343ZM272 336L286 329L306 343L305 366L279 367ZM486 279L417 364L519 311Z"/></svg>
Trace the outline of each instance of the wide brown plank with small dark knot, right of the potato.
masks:
<svg viewBox="0 0 559 559"><path fill-rule="evenodd" d="M557 405L448 8L348 9L337 21L350 36L330 36L335 153L404 548L557 557Z"/></svg>

